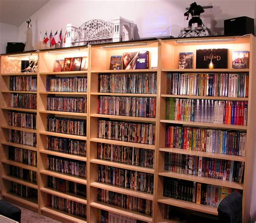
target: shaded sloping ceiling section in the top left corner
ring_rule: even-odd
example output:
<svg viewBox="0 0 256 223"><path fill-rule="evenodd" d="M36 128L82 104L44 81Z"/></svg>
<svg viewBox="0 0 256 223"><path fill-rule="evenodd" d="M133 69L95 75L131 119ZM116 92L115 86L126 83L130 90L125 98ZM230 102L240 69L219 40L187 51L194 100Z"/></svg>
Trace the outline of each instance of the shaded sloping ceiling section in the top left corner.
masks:
<svg viewBox="0 0 256 223"><path fill-rule="evenodd" d="M0 0L0 23L19 26L50 0Z"/></svg>

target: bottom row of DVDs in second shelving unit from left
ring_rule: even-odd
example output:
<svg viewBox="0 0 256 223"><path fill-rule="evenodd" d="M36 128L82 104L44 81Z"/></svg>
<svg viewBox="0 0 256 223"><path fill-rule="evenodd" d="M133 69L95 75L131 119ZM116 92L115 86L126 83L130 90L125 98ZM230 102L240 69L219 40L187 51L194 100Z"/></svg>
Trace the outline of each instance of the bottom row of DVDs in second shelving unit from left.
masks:
<svg viewBox="0 0 256 223"><path fill-rule="evenodd" d="M64 211L69 214L77 215L86 218L86 205L80 204L65 198L60 198L52 194L47 194L48 207Z"/></svg>

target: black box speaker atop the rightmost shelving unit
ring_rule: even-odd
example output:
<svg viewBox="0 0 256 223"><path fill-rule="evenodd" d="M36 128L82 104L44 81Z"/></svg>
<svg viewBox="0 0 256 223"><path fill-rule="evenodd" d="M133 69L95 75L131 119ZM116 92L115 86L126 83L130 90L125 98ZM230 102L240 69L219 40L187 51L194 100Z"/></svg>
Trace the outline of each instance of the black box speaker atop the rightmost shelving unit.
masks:
<svg viewBox="0 0 256 223"><path fill-rule="evenodd" d="M254 35L254 19L247 16L224 20L225 35Z"/></svg>

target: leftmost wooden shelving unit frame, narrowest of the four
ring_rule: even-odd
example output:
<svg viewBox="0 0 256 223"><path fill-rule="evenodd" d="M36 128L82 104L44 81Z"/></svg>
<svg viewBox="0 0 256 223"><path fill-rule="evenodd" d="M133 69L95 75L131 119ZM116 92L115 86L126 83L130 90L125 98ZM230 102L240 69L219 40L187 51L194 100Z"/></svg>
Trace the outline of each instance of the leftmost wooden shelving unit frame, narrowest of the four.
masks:
<svg viewBox="0 0 256 223"><path fill-rule="evenodd" d="M27 60L29 58L37 59L38 55L36 52L29 53L19 53L18 55L2 55L1 57L1 184L2 184L2 197L5 200L11 200L16 204L25 206L33 211L38 211L38 198L22 198L16 195L14 192L11 192L11 182L17 183L23 186L27 186L38 190L38 181L33 183L28 180L24 180L18 177L10 175L10 166L15 168L23 168L25 170L34 171L37 175L38 169L37 165L28 165L18 161L9 159L9 147L18 147L22 150L35 151L37 152L36 146L24 145L19 143L14 143L9 141L9 130L18 130L22 132L29 132L37 134L36 129L28 129L25 127L16 127L9 125L9 111L14 112L29 112L36 114L36 109L24 109L21 107L10 107L9 105L9 96L11 93L18 93L20 95L28 93L35 95L37 91L11 91L10 90L10 77L35 77L37 72L24 73L19 69L11 69L12 61L14 60ZM38 126L38 125L37 125ZM36 127L37 127L36 126ZM38 157L38 153L37 153Z"/></svg>

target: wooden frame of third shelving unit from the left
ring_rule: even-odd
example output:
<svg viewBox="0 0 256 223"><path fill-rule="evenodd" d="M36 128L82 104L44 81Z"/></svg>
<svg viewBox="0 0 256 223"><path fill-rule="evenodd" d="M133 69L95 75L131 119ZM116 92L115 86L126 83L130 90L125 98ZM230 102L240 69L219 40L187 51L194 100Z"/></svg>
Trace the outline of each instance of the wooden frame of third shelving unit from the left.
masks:
<svg viewBox="0 0 256 223"><path fill-rule="evenodd" d="M132 197L142 198L146 200L153 201L155 191L150 194L138 190L130 190L129 188L124 188L120 186L113 186L111 184L100 183L98 182L98 166L107 166L107 167L117 167L130 171L138 171L143 173L155 174L154 168L142 167L129 165L124 163L118 163L114 161L99 159L97 156L97 146L98 144L111 144L117 146L129 146L129 147L137 147L144 148L147 150L155 150L155 145L142 144L142 143L132 143L127 141L119 141L113 139L103 139L98 138L98 121L102 118L105 120L111 121L128 121L131 123L157 123L156 118L143 118L143 117L131 117L131 116L115 116L111 114L98 114L98 98L100 96L124 96L124 97L157 97L157 94L138 94L138 93L102 93L99 92L99 75L112 75L112 74L138 74L144 75L145 73L157 73L157 69L151 69L151 67L156 67L158 63L158 42L139 42L131 44L131 46L126 46L125 44L107 44L107 45L97 45L92 46L91 48L91 58L97 58L91 60L90 65L90 120L89 120L89 141L90 141L90 166L89 166L89 174L90 174L90 222L96 222L97 220L97 212L99 210L105 210L109 212L113 212L116 214L121 214L126 217L130 217L133 219L142 220L145 222L152 222L153 215L146 215L139 213L137 211L131 211L125 208L117 207L114 205L106 204L104 202L100 202L97 200L97 190L107 190L111 192L116 192L120 194L130 195ZM140 46L141 45L141 46ZM138 52L138 51L149 51L149 69L146 70L109 70L110 66L110 58L111 56L123 55L124 52ZM156 108L157 109L157 108ZM157 109L158 113L158 109ZM97 127L96 127L97 126ZM154 153L154 160L156 160L156 153ZM155 184L154 184L155 186ZM154 212L154 211L153 211Z"/></svg>

